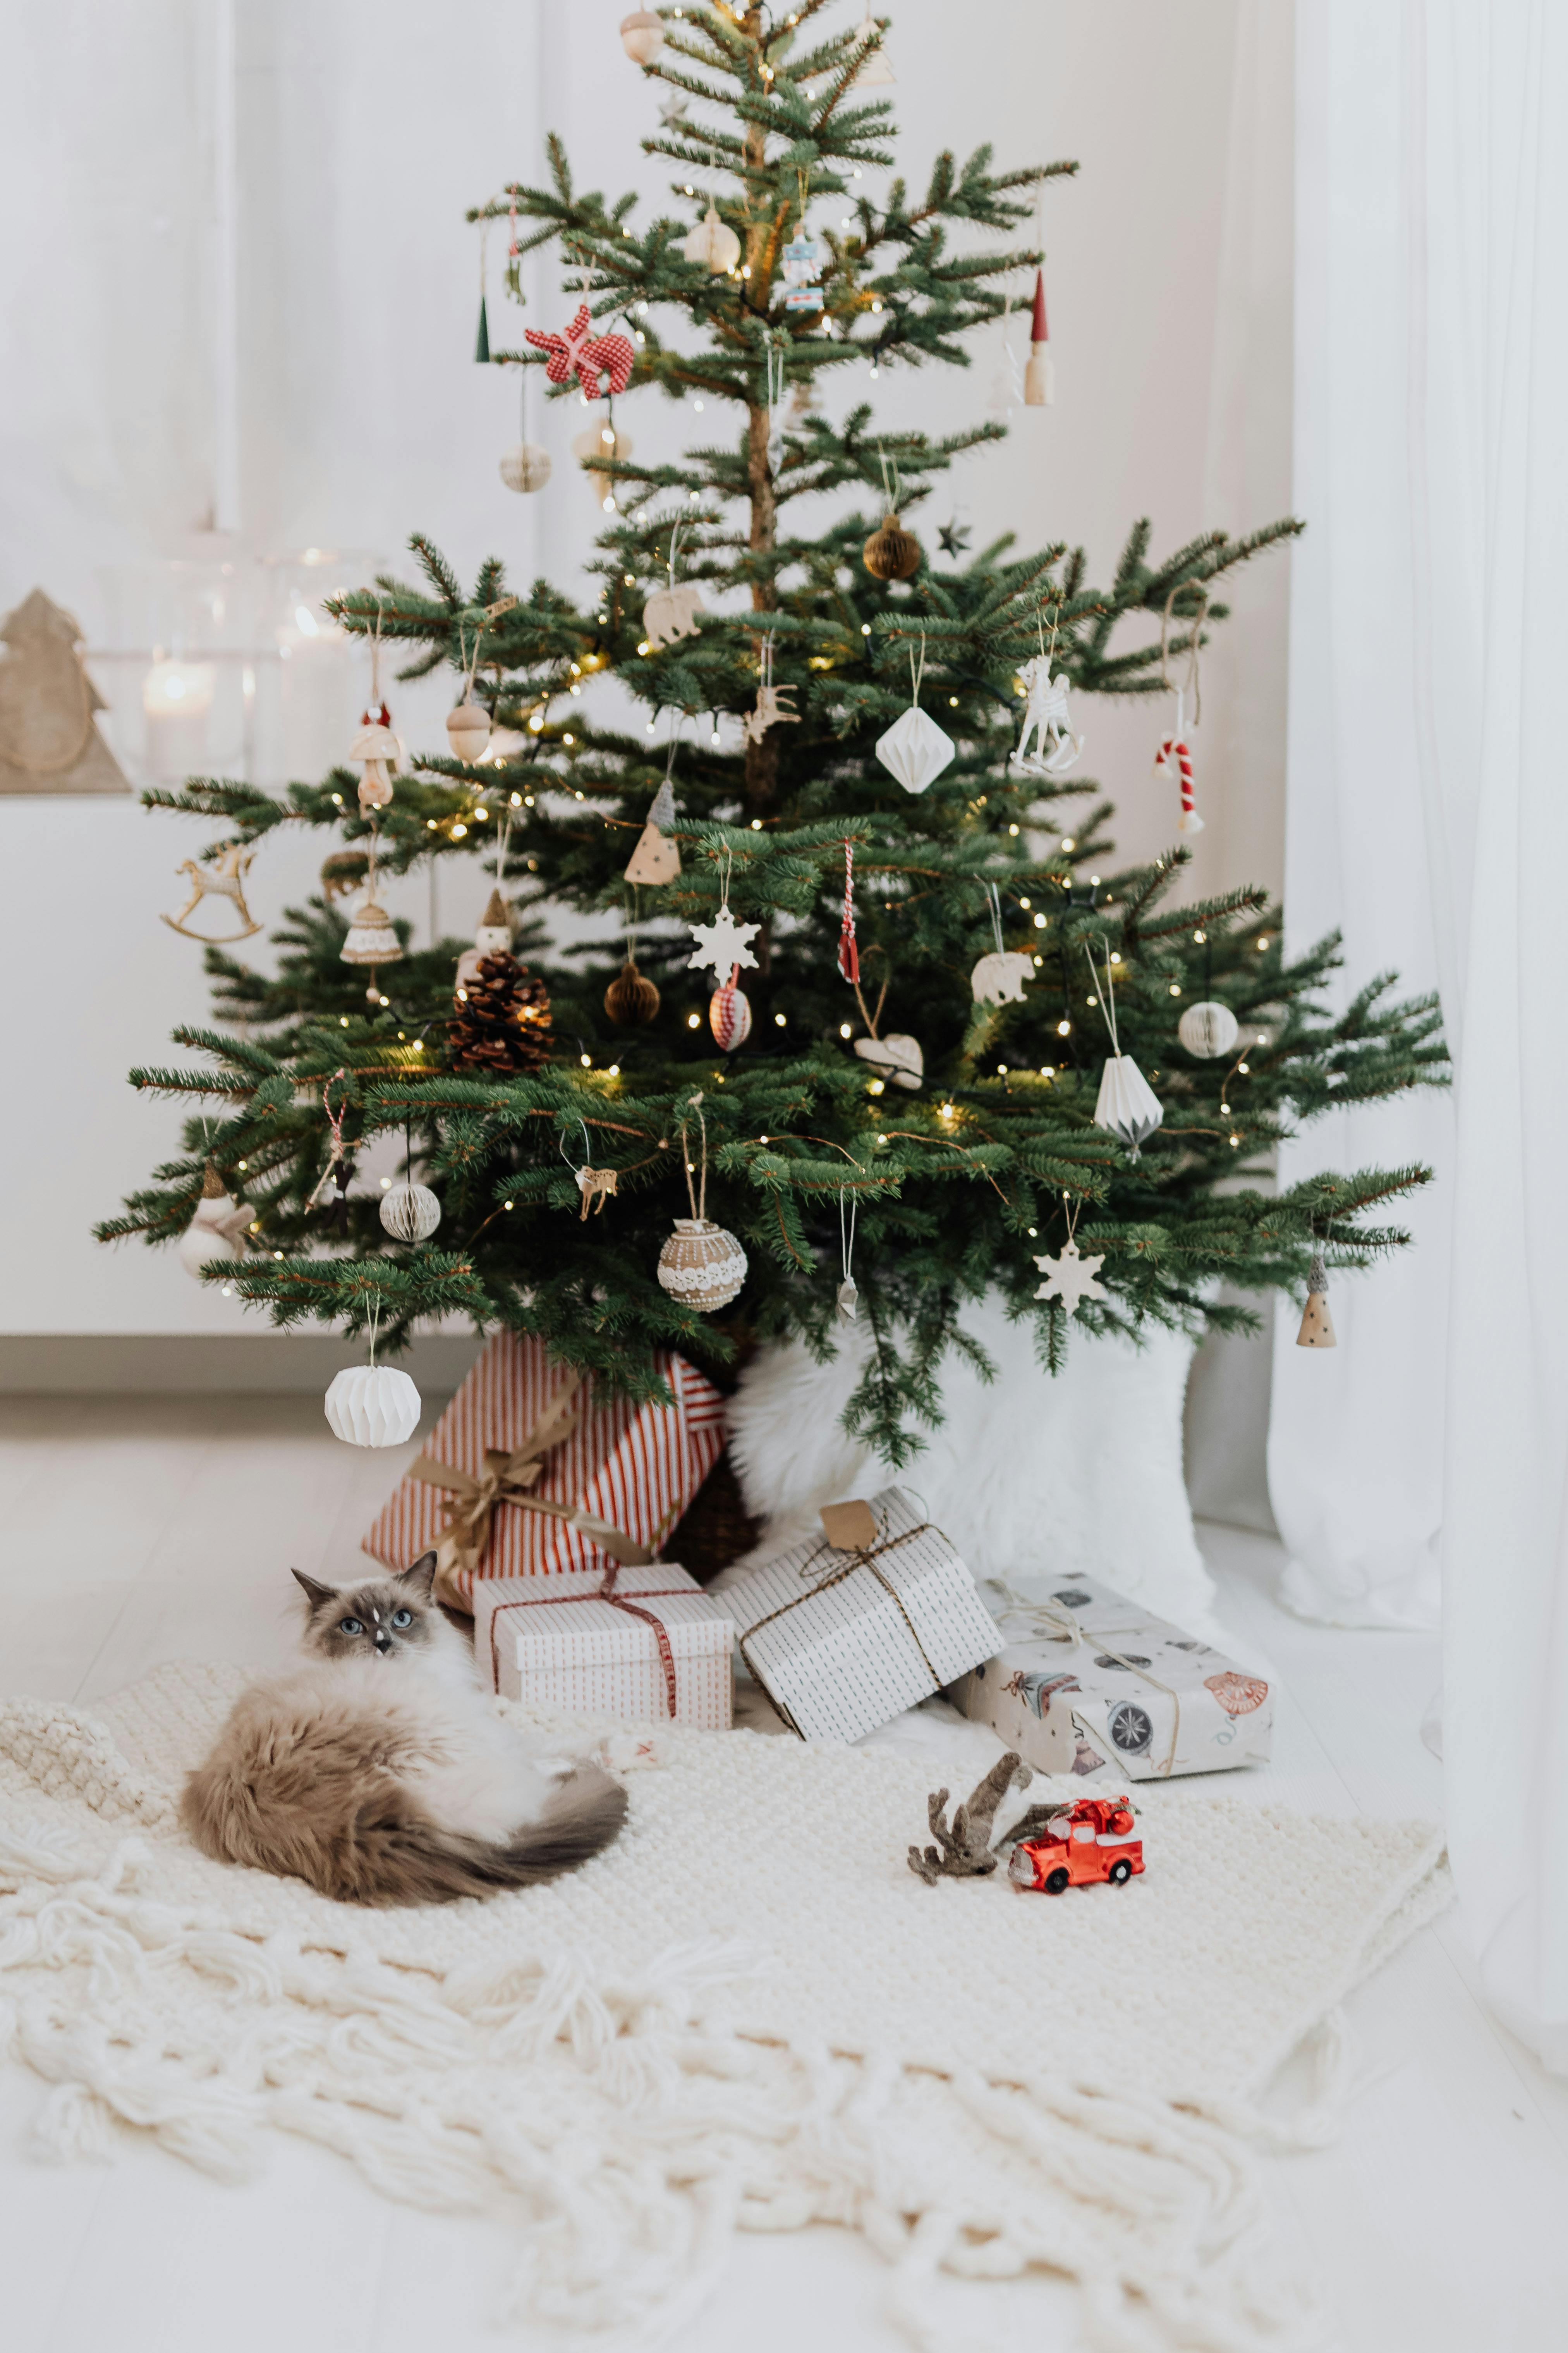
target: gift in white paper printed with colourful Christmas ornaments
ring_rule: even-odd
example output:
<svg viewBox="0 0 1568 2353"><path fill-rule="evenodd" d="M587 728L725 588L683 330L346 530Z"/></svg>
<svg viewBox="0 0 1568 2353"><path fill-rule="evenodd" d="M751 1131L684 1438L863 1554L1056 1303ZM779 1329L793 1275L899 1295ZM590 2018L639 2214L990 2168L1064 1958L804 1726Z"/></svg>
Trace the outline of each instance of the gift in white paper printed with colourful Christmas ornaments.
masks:
<svg viewBox="0 0 1568 2353"><path fill-rule="evenodd" d="M1267 1758L1274 1694L1225 1652L1088 1577L1041 1598L980 1591L1006 1647L950 1697L1027 1765L1159 1781Z"/></svg>

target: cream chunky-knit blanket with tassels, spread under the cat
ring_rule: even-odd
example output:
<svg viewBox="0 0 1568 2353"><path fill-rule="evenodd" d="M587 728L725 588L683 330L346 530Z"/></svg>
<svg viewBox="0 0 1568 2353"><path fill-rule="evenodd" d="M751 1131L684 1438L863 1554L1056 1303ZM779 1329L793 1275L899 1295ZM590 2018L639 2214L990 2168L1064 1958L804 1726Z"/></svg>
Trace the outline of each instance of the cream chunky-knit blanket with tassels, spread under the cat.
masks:
<svg viewBox="0 0 1568 2353"><path fill-rule="evenodd" d="M813 2219L891 2259L922 2346L933 2266L1030 2264L1081 2282L1091 2346L1295 2344L1253 2101L1446 1899L1429 1826L1145 1786L1124 1889L924 1887L922 1762L672 1729L585 1871L371 1913L179 1835L240 1685L0 1704L0 2052L52 2082L56 2153L118 2118L240 2179L270 2125L393 2198L503 2198L512 2308L599 2353L679 2329L733 2228Z"/></svg>

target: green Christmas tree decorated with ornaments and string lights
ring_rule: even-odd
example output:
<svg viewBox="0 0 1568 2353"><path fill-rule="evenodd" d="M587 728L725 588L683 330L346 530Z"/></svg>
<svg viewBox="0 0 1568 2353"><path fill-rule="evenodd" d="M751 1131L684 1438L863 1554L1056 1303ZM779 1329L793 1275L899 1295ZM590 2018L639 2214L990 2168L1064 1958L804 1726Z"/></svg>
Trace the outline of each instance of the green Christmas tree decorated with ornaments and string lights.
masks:
<svg viewBox="0 0 1568 2353"><path fill-rule="evenodd" d="M875 198L870 174L893 160L875 71L886 19L818 38L825 14L825 0L783 24L693 5L663 12L663 42L644 26L670 94L644 148L675 167L675 212L639 221L632 195L578 193L550 141L545 186L473 214L515 214L520 252L559 249L538 344L491 360L545 374L576 421L581 391L595 395L607 527L578 602L548 581L508 591L498 562L465 588L421 536L418 586L383 579L331 605L348 631L397 640L404 678L444 664L463 680L480 706L454 715L465 755L425 753L390 800L371 762L369 807L348 767L284 795L226 781L146 795L223 819L214 856L277 826L324 828L341 838L336 889L369 859L487 859L520 936L491 927L480 946L510 946L543 979L552 1047L515 967L470 951L482 1005L458 998L465 944L411 953L407 925L367 1000L341 911L313 901L280 934L275 979L209 953L228 1026L176 1033L205 1066L132 1073L200 1104L186 1155L99 1231L179 1235L212 1158L256 1217L221 1278L277 1322L362 1329L374 1313L395 1346L414 1318L456 1308L646 1393L656 1346L710 1369L783 1334L832 1346L853 1217L867 1365L851 1424L905 1459L940 1409L945 1351L973 1353L959 1313L987 1289L1060 1367L1074 1313L1088 1332L1241 1329L1251 1313L1218 1304L1220 1280L1300 1292L1314 1257L1366 1266L1403 1242L1380 1217L1425 1169L1269 1193L1269 1153L1302 1120L1446 1064L1434 1002L1396 1002L1392 979L1324 1012L1338 944L1286 960L1265 892L1178 904L1180 842L1119 871L1110 805L1067 767L1072 704L1161 694L1168 664L1225 619L1225 576L1295 522L1161 560L1140 522L1107 586L1067 546L938 562L922 541L933 482L1006 428L879 433L858 398L867 362L969 365L1006 289L1032 285L1041 256L1013 240L1041 181L1074 165L997 172L980 148L961 167L940 155L924 195L891 179ZM722 181L710 207L698 174ZM693 393L726 424L679 464L639 466L616 454L616 379L621 409ZM818 386L849 395L837 421ZM792 534L797 501L825 492L837 520ZM644 720L616 720L595 692L607 673ZM1030 682L1044 732L1020 765ZM924 720L905 718L912 701ZM900 720L914 741L889 748L896 774L877 744ZM931 776L936 720L950 758ZM670 873L670 849L668 880L625 878L632 852L635 871ZM621 936L552 955L550 908L621 915L635 974ZM997 953L999 988L978 995L971 974ZM710 991L731 979L745 1002L719 991L710 1033ZM498 1038L512 1000L534 1038L475 1066L475 1038ZM1218 1009L1182 1042L1178 1016L1199 1002ZM1112 1042L1121 1092L1138 1094L1135 1064L1159 1099L1154 1132L1135 1104L1095 1122ZM409 1174L442 1202L430 1242L395 1242L353 1191L346 1242L327 1235L313 1205L327 1108L348 1155L407 1139ZM592 1219L588 1162L616 1176ZM658 1280L672 1221L698 1205L748 1259L717 1313ZM1037 1259L1060 1264L1065 1245L1084 1259L1041 1285ZM1079 1301L1088 1257L1098 1285Z"/></svg>

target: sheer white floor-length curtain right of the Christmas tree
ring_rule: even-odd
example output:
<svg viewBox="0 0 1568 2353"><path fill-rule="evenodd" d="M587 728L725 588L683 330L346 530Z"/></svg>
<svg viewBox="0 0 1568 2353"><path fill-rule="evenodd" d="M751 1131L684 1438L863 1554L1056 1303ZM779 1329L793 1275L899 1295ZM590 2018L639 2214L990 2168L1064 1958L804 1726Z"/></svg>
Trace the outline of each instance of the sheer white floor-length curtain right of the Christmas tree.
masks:
<svg viewBox="0 0 1568 2353"><path fill-rule="evenodd" d="M1458 1082L1450 1136L1410 1099L1326 1139L1441 1181L1422 1247L1335 1287L1338 1355L1281 1337L1269 1468L1324 1614L1420 1617L1441 1529L1465 1918L1568 2071L1568 14L1319 0L1298 73L1288 899L1352 981L1436 979Z"/></svg>

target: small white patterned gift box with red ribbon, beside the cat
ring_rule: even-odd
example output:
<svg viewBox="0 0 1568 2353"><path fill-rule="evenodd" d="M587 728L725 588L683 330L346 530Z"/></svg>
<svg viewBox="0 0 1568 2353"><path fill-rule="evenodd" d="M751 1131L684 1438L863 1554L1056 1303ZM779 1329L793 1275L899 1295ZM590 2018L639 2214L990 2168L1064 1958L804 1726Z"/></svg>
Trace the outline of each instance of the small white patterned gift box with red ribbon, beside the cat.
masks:
<svg viewBox="0 0 1568 2353"><path fill-rule="evenodd" d="M562 1715L729 1732L736 1628L672 1560L559 1577L482 1577L475 1657L503 1699Z"/></svg>

